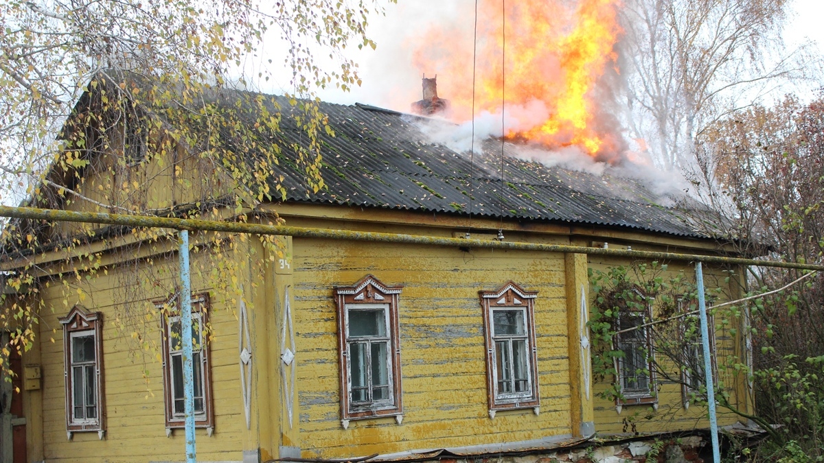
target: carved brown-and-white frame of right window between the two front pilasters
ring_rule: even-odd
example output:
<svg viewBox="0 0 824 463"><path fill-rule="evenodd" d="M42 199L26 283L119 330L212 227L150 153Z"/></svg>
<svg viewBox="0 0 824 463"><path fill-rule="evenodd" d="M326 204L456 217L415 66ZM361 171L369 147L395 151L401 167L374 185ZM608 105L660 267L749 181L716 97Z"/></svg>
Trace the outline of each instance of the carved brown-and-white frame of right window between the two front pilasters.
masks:
<svg viewBox="0 0 824 463"><path fill-rule="evenodd" d="M508 409L533 409L538 414L541 406L538 376L538 349L536 347L535 330L535 299L536 291L527 291L512 281L503 285L497 291L479 291L480 306L484 317L484 337L486 344L486 391L489 404L489 417L495 413ZM499 393L498 366L496 362L496 340L504 339L494 333L494 311L501 309L520 309L524 311L526 334L519 336L527 341L527 372L529 373L528 393ZM509 339L507 337L507 339Z"/></svg>

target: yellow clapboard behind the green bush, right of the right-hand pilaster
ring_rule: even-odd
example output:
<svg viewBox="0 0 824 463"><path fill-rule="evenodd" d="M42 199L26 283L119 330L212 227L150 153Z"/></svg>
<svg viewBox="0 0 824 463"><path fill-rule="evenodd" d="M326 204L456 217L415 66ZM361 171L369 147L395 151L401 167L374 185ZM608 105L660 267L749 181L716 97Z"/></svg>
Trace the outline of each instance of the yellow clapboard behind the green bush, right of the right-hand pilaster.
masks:
<svg viewBox="0 0 824 463"><path fill-rule="evenodd" d="M590 256L589 265L592 269L606 270L609 267L616 267L619 265L627 265L625 261L614 258L602 258L597 256ZM704 269L705 288L726 287L725 278L728 274L717 267L707 266ZM684 263L668 263L667 270L663 272L662 278L667 280L676 276L678 273L684 274L686 278L695 280L695 267L691 264ZM653 314L653 317L656 314ZM718 358L727 355L733 355L735 352L735 336L731 336L728 330L716 330L715 343ZM658 357L662 361L661 356ZM667 362L663 362L667 364ZM719 361L720 365L720 361ZM671 372L677 372L677 367L671 365L667 369ZM675 374L675 373L672 373ZM726 384L731 385L733 377L728 372L724 372L719 368L720 380ZM681 395L681 383L675 381L667 381L661 376L657 378L658 385L658 409L655 410L651 405L624 405L621 413L616 411L616 405L611 400L602 399L599 394L606 391L608 383L613 381L613 378L606 377L602 381L597 381L593 387L595 400L593 404L595 412L595 428L598 433L625 433L634 429L639 433L646 432L660 432L662 430L677 431L694 428L709 428L709 422L706 419L706 407L693 405L689 409L684 409ZM727 425L735 423L738 419L737 415L730 413L728 410L718 408L719 410L719 425Z"/></svg>

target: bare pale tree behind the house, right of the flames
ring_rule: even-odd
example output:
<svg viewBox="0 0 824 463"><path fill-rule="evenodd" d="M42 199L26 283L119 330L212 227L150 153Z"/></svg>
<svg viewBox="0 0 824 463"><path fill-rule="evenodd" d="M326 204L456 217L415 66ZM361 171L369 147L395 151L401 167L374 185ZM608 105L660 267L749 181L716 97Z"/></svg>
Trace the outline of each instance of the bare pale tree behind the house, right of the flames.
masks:
<svg viewBox="0 0 824 463"><path fill-rule="evenodd" d="M781 42L788 7L786 0L625 3L626 119L659 167L694 166L696 143L714 120L808 75L799 64L805 50L786 53Z"/></svg>

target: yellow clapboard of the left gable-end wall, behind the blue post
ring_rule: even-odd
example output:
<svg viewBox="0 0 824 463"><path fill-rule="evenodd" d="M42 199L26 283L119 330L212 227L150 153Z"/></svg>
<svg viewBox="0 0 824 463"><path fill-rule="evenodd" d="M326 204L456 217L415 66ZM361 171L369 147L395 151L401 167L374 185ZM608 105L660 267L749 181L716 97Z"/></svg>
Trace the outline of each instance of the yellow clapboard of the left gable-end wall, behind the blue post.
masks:
<svg viewBox="0 0 824 463"><path fill-rule="evenodd" d="M165 275L159 280L161 288L174 288L176 256L169 262L157 262ZM206 259L199 256L195 259ZM126 333L113 324L126 303L151 303L169 295L168 290L155 292L126 291L124 286L131 274L129 269L110 269L108 274L82 279L70 285L68 294L59 285L45 288L44 321L40 323L43 367L43 445L47 461L182 461L185 457L185 437L176 429L166 437L163 405L162 364L160 355L161 330L157 318L143 320L141 334L154 341L156 350L140 351ZM216 293L204 287L204 280L193 272L195 293L209 292L211 311L209 320L213 329L210 344L213 379L213 407L215 429L212 437L205 429L197 430L198 459L201 461L240 461L241 442L246 433L243 403L240 397L237 364L237 319L233 297ZM76 288L88 294L81 303L88 311L104 314L103 363L105 368L105 410L107 429L104 440L97 433L74 433L71 442L66 437L65 392L63 382L63 331L57 318L78 303ZM132 299L124 298L126 296ZM139 298L138 298L139 296ZM66 302L68 302L68 304ZM124 337L125 336L125 337ZM54 337L54 343L49 339ZM147 377L143 378L143 372Z"/></svg>

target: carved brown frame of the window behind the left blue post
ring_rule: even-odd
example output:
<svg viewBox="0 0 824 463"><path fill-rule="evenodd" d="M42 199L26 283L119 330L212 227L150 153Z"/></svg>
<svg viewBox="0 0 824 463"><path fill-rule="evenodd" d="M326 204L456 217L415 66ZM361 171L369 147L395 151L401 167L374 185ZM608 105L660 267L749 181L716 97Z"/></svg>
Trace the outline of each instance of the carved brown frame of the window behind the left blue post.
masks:
<svg viewBox="0 0 824 463"><path fill-rule="evenodd" d="M161 329L162 329L162 353L163 353L163 402L166 409L166 436L171 436L172 430L176 428L185 428L185 416L175 413L174 407L174 393L172 391L172 362L171 362L171 336L169 330L171 323L180 317L177 309L177 301L179 295L175 295L164 301L155 302L155 306L163 311L164 307L168 307L168 311L162 313ZM207 434L212 435L214 431L214 404L212 391L212 356L209 349L208 336L204 335L204 326L208 325L208 313L211 306L209 305L208 293L200 293L192 295L192 315L200 318L202 346L200 348L200 371L203 373L203 394L204 394L204 411L203 413L194 415L194 427L206 428ZM195 320L193 317L193 321ZM194 351L193 351L194 353Z"/></svg>

